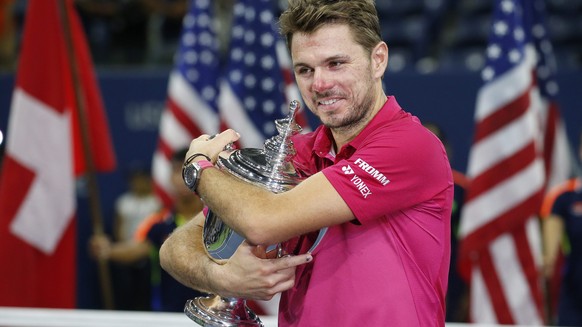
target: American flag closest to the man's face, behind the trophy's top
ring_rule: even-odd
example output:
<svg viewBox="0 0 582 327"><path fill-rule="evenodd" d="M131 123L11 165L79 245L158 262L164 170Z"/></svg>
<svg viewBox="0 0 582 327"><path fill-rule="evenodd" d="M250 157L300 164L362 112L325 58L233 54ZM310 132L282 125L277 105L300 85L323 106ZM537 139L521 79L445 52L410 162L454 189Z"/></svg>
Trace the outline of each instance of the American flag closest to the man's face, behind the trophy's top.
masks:
<svg viewBox="0 0 582 327"><path fill-rule="evenodd" d="M296 90L288 59L287 69L281 70L279 58L285 58L287 50L272 6L271 0L240 0L233 8L230 57L221 80L219 107L226 125L243 132L244 147L261 147L266 137L276 134L274 120L287 113L287 92ZM299 100L297 95L289 96Z"/></svg>

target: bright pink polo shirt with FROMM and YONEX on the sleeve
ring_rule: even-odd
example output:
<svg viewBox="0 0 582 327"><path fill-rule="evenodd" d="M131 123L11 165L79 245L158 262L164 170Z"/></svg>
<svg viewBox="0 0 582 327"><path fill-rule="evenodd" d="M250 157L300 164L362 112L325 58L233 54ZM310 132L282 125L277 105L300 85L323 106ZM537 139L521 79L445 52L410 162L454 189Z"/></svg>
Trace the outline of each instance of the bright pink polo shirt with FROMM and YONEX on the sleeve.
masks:
<svg viewBox="0 0 582 327"><path fill-rule="evenodd" d="M356 219L329 227L297 269L279 326L444 326L453 178L441 142L394 97L335 158L330 135L296 136L295 165L323 171Z"/></svg>

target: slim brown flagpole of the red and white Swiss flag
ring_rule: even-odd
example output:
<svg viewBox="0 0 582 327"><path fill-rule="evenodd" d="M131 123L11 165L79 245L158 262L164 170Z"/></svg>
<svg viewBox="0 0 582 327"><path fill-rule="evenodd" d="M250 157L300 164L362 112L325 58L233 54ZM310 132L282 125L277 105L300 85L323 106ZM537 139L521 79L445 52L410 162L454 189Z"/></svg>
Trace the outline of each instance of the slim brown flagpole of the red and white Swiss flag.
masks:
<svg viewBox="0 0 582 327"><path fill-rule="evenodd" d="M86 171L85 177L88 183L89 204L91 211L91 223L93 233L95 235L103 235L103 214L101 212L101 201L99 197L99 185L97 183L96 169L93 161L93 153L91 152L91 142L89 140L89 123L87 121L87 112L85 105L85 97L81 89L79 79L79 69L77 65L76 56L73 49L73 38L71 35L71 24L69 22L68 7L65 3L67 0L59 0L59 12L61 13L61 22L63 26L63 35L65 37L65 44L69 56L69 63L71 68L71 77L73 81L75 104L78 109L78 122L81 130L81 139L83 144L83 157L85 159ZM98 259L99 281L101 283L101 292L105 309L114 309L113 291L111 287L111 277L109 273L109 265L104 259Z"/></svg>

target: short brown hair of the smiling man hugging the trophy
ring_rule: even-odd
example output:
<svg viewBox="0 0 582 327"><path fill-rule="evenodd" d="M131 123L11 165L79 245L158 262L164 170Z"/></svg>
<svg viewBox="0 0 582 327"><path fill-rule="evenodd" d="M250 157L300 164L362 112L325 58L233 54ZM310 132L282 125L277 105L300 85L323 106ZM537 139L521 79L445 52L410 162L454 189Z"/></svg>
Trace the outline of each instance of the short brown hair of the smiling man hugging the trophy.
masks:
<svg viewBox="0 0 582 327"><path fill-rule="evenodd" d="M310 34L327 24L346 24L368 52L382 41L374 0L289 0L289 8L279 18L289 49L293 34Z"/></svg>

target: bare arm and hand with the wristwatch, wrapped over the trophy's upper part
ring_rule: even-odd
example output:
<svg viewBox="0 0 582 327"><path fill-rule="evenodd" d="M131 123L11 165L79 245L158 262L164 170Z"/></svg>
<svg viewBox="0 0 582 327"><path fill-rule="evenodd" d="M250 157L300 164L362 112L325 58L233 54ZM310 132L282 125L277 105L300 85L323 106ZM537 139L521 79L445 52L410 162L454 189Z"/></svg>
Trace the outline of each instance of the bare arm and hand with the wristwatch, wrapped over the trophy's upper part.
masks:
<svg viewBox="0 0 582 327"><path fill-rule="evenodd" d="M193 140L187 157L203 153L216 162L220 151L236 141L238 134L227 130L211 140L207 138L203 135ZM227 225L252 244L276 244L354 219L322 173L287 192L274 194L218 169L205 169L197 192Z"/></svg>

